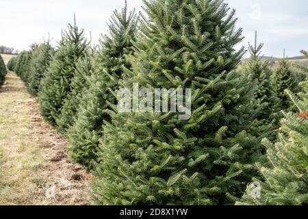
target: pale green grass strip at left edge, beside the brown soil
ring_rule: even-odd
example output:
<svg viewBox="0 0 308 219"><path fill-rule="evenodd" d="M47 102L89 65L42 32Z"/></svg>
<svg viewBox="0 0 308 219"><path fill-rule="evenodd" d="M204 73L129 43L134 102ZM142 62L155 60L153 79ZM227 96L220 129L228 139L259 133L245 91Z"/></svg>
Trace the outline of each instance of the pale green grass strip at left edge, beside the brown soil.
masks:
<svg viewBox="0 0 308 219"><path fill-rule="evenodd" d="M0 96L0 205L31 205L42 157L30 138L25 107L30 95L21 79L9 73Z"/></svg>

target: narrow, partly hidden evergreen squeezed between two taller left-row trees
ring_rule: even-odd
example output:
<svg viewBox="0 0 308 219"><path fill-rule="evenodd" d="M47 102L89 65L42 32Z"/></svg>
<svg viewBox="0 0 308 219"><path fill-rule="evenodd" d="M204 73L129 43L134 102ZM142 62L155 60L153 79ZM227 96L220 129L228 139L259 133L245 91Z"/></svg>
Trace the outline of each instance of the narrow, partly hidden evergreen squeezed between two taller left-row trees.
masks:
<svg viewBox="0 0 308 219"><path fill-rule="evenodd" d="M61 116L57 119L59 131L66 133L66 130L73 125L75 114L79 108L82 94L88 90L90 83L89 77L92 75L92 52L86 51L84 58L76 64L76 70L72 82L70 83L71 92L63 105Z"/></svg>

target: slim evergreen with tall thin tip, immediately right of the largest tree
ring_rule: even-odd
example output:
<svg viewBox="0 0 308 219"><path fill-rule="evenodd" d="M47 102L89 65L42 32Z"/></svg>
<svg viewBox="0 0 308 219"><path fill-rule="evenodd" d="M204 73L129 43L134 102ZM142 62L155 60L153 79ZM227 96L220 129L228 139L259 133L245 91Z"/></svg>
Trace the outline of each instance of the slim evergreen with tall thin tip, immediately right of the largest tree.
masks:
<svg viewBox="0 0 308 219"><path fill-rule="evenodd" d="M269 67L269 62L261 61L261 49L264 44L257 44L257 31L255 32L255 44L248 45L248 51L251 57L242 66L244 75L248 75L253 81L256 81L258 88L255 92L255 118L256 122L252 129L256 129L256 135L268 137L274 140L276 136L275 129L279 128L280 114L280 99L274 92Z"/></svg>

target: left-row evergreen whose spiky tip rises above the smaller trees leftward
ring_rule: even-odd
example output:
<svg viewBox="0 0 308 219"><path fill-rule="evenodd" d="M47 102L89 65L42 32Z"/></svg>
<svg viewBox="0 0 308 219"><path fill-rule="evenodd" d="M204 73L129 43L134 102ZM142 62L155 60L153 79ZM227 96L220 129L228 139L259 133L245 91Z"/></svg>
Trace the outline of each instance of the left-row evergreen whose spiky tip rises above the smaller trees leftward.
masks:
<svg viewBox="0 0 308 219"><path fill-rule="evenodd" d="M62 34L57 52L51 60L46 76L42 79L39 96L40 112L52 125L59 118L63 104L71 92L70 83L74 77L76 64L84 57L88 42L84 29L68 25L68 31Z"/></svg>

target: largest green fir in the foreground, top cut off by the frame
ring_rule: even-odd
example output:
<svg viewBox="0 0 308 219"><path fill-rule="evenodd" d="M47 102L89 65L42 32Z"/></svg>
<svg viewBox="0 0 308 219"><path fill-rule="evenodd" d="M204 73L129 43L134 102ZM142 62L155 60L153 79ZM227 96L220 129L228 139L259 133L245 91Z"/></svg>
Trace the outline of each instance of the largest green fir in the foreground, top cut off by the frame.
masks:
<svg viewBox="0 0 308 219"><path fill-rule="evenodd" d="M105 122L93 185L98 204L218 205L242 196L258 153L244 111L255 88L234 71L242 29L220 0L144 1L149 20L123 88L190 88L192 115L118 112ZM135 105L136 106L136 105ZM151 108L151 105L148 105Z"/></svg>

